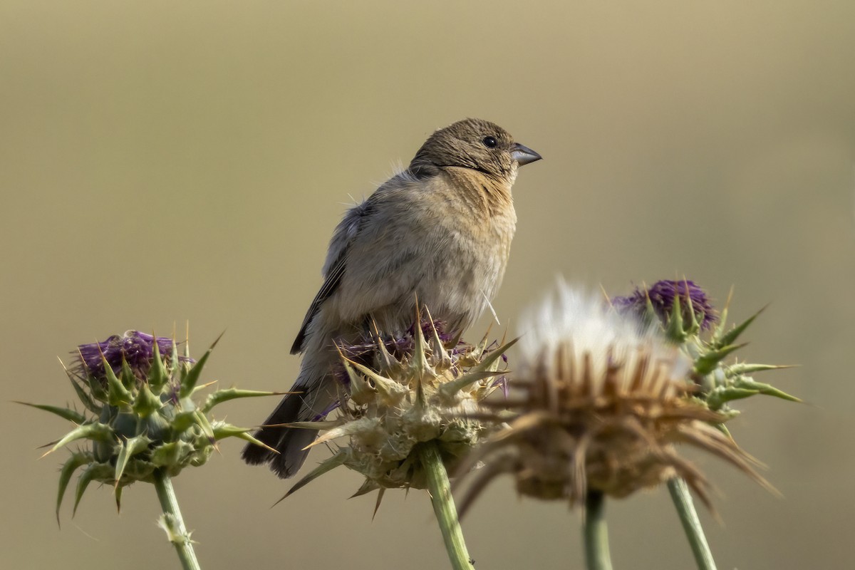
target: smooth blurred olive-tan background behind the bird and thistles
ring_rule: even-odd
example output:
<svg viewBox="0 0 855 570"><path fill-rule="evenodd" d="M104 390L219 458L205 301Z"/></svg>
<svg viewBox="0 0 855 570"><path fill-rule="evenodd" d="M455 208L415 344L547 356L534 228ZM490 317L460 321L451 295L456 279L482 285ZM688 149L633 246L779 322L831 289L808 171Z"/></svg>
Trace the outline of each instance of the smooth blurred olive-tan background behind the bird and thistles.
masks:
<svg viewBox="0 0 855 570"><path fill-rule="evenodd" d="M333 226L433 129L494 120L522 169L494 305L558 273L613 294L683 275L731 314L769 309L752 361L805 405L754 398L730 425L773 497L701 458L721 568L838 568L855 523L855 3L0 2L0 558L7 568L177 567L136 485L92 488L62 528L68 428L10 403L72 399L56 356L129 328L191 326L208 378L286 389L287 348ZM487 320L474 328L481 336ZM513 357L513 355L511 355ZM260 422L272 401L221 408ZM346 500L342 471L289 484L239 443L176 480L206 568L443 568L422 492ZM315 451L309 465L325 450ZM612 502L616 568L689 568L667 492ZM464 520L478 568L581 567L581 516L494 485Z"/></svg>

